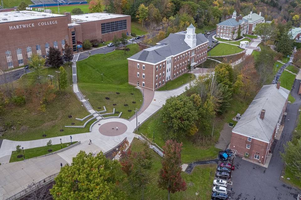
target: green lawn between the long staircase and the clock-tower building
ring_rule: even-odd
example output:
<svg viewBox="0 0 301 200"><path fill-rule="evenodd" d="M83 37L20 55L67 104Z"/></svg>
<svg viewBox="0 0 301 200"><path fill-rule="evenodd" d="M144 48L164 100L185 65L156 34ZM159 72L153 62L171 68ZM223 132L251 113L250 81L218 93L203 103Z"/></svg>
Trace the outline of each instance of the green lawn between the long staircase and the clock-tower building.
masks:
<svg viewBox="0 0 301 200"><path fill-rule="evenodd" d="M127 58L137 53L139 47L136 44L127 47L130 51L126 54L122 50L115 50L106 55L96 54L77 62L78 85L92 107L102 109L105 106L108 112L112 112L115 108L115 112L122 112L121 117L125 119L134 115L134 107L140 108L142 104L140 90L128 84ZM101 77L103 77L103 82ZM110 99L107 100L106 97ZM117 105L113 106L113 104ZM128 112L128 110L132 111Z"/></svg>

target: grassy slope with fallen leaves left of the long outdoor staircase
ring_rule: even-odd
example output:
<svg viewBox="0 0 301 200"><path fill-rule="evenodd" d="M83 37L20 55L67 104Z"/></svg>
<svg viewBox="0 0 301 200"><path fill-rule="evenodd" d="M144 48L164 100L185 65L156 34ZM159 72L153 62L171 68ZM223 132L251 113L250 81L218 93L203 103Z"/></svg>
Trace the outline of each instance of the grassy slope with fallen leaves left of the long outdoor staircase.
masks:
<svg viewBox="0 0 301 200"><path fill-rule="evenodd" d="M65 69L69 78L71 78L71 68L65 67ZM58 70L58 68L46 68L41 71L43 77L41 83L49 83L49 80L46 78L48 74L55 75L52 83L54 84L56 97L53 101L46 104L46 111L39 111L30 102L24 106L16 106L13 103L9 103L0 115L0 126L7 128L7 131L0 139L27 141L42 139L44 133L47 135L46 138L51 138L89 132L89 126L93 122L88 123L86 128L64 127L71 125L71 123L83 125L84 122L77 121L75 118L83 118L89 113L81 106L81 103L73 93L69 78L66 91L62 91L61 94L58 92L57 73L55 73L55 70ZM36 74L32 72L28 73L27 76L22 76L13 84L14 88L16 88L17 85L30 87L36 83L38 83ZM72 118L68 118L68 115L71 115ZM60 132L61 129L64 129L64 131Z"/></svg>

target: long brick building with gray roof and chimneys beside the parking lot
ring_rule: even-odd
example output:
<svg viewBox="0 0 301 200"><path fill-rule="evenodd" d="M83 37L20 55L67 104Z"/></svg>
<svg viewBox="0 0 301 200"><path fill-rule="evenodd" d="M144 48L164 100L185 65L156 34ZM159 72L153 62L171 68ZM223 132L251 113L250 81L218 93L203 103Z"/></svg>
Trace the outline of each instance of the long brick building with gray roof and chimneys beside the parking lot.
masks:
<svg viewBox="0 0 301 200"><path fill-rule="evenodd" d="M280 82L264 85L232 129L230 148L265 164L286 109L290 91Z"/></svg>

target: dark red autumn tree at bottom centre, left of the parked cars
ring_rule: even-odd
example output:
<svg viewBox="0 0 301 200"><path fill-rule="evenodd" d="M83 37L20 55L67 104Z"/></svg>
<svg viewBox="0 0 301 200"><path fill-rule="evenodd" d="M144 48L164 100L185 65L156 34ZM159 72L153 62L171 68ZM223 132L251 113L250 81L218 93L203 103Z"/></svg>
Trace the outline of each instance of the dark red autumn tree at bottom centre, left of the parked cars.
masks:
<svg viewBox="0 0 301 200"><path fill-rule="evenodd" d="M174 140L167 140L163 147L164 157L162 160L162 169L159 174L158 185L168 191L168 200L170 193L186 190L186 183L181 177L181 151L182 143Z"/></svg>

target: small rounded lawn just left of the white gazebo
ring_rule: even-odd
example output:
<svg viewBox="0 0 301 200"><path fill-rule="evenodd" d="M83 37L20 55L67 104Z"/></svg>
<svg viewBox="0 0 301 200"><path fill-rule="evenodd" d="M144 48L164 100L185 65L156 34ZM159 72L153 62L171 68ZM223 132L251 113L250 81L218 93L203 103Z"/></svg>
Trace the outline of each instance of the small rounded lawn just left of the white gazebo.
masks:
<svg viewBox="0 0 301 200"><path fill-rule="evenodd" d="M241 48L239 48L235 45L219 43L211 51L209 51L207 53L207 55L210 55L210 56L223 56L223 55L230 55L230 54L240 53L242 51L243 51L243 49L241 49Z"/></svg>

